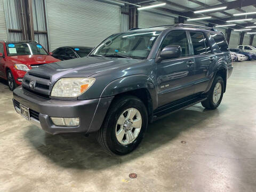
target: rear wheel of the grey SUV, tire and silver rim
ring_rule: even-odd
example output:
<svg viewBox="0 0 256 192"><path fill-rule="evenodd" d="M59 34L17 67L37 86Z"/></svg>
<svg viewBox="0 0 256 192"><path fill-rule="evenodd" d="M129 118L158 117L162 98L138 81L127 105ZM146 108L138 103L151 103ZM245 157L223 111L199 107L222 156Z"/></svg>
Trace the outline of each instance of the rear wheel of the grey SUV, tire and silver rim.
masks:
<svg viewBox="0 0 256 192"><path fill-rule="evenodd" d="M206 109L216 109L222 100L224 92L224 82L221 76L215 77L211 89L209 90L208 97L202 101L202 106Z"/></svg>

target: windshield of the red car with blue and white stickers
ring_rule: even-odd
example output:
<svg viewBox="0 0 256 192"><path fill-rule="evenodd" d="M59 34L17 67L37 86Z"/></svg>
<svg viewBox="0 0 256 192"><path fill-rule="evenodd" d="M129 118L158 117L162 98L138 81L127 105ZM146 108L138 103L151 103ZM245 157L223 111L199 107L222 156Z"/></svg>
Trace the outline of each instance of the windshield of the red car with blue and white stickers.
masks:
<svg viewBox="0 0 256 192"><path fill-rule="evenodd" d="M9 56L48 54L42 45L35 43L9 43L6 47Z"/></svg>

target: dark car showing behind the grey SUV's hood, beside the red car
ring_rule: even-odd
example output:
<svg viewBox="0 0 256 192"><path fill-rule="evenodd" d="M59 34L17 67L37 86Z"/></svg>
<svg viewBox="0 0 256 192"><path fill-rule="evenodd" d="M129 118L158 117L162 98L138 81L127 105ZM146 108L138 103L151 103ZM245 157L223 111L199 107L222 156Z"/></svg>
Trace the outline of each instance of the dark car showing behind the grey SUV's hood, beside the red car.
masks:
<svg viewBox="0 0 256 192"><path fill-rule="evenodd" d="M92 47L86 46L59 47L52 52L52 56L60 60L83 58L86 57L92 49Z"/></svg>

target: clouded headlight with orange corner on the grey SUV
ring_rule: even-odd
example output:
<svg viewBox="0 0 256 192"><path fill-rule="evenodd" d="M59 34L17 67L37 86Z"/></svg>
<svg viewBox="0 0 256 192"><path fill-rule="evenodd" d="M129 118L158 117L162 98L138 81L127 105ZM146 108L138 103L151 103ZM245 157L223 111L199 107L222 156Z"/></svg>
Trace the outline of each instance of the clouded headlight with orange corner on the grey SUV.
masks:
<svg viewBox="0 0 256 192"><path fill-rule="evenodd" d="M77 97L92 86L95 79L86 77L71 77L59 79L52 88L53 97Z"/></svg>

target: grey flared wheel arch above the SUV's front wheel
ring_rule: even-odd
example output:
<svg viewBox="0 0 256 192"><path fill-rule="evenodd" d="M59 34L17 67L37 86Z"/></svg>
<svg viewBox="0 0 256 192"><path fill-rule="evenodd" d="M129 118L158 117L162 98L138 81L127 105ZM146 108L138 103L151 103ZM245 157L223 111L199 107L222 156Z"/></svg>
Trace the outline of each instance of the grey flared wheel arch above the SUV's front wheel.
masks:
<svg viewBox="0 0 256 192"><path fill-rule="evenodd" d="M110 82L102 91L100 98L111 97L117 94L134 91L138 89L147 89L153 109L157 107L157 93L153 80L147 75L131 75L116 79Z"/></svg>

